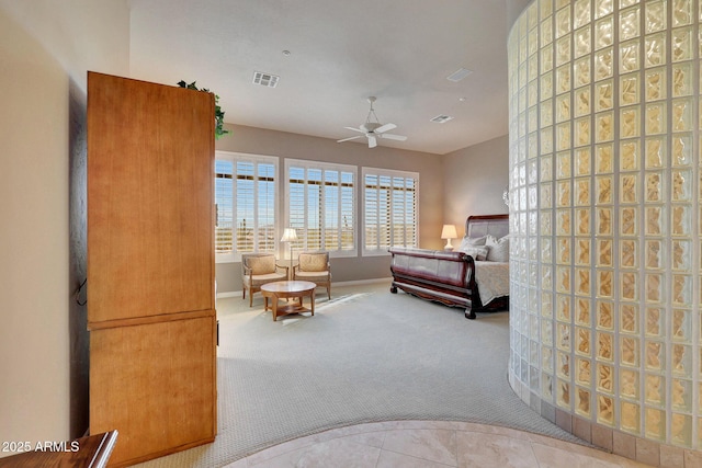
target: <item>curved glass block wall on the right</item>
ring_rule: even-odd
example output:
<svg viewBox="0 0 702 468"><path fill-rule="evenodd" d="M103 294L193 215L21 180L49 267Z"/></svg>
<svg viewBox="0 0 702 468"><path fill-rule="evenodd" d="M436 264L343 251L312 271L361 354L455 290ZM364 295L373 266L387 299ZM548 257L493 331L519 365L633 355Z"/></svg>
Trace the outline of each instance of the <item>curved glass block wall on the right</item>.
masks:
<svg viewBox="0 0 702 468"><path fill-rule="evenodd" d="M702 0L535 0L509 36L512 387L697 449L701 24Z"/></svg>

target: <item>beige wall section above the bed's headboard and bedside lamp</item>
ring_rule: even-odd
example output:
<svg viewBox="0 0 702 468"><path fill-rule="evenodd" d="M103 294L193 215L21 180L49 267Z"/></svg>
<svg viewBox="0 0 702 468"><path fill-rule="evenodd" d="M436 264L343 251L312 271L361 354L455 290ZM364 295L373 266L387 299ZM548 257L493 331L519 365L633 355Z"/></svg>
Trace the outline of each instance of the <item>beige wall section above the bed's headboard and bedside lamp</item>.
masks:
<svg viewBox="0 0 702 468"><path fill-rule="evenodd" d="M443 158L444 222L458 236L469 215L508 213L502 192L509 184L509 137L498 137Z"/></svg>

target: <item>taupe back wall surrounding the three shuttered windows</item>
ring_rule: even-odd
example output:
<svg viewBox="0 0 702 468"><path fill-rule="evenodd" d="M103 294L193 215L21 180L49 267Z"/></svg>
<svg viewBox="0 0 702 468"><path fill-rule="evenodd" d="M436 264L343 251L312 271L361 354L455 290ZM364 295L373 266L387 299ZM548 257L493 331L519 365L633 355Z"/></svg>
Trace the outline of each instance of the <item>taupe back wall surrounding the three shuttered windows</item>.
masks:
<svg viewBox="0 0 702 468"><path fill-rule="evenodd" d="M226 112L226 110L225 110ZM439 238L443 217L442 157L417 151L378 146L370 149L364 144L337 144L327 138L317 138L262 128L228 126L233 134L217 141L217 149L253 155L278 156L280 170L285 158L313 159L317 161L354 164L361 167L395 169L419 172L419 240L428 249L440 249ZM280 207L284 207L284 184L279 185ZM361 219L361 205L356 206ZM281 222L283 222L281 220ZM284 226L279 226L282 231ZM358 232L360 236L360 232ZM359 237L360 239L360 237ZM364 281L389 277L389 256L364 256L332 259L333 282ZM241 264L218 263L216 267L217 293L241 290Z"/></svg>

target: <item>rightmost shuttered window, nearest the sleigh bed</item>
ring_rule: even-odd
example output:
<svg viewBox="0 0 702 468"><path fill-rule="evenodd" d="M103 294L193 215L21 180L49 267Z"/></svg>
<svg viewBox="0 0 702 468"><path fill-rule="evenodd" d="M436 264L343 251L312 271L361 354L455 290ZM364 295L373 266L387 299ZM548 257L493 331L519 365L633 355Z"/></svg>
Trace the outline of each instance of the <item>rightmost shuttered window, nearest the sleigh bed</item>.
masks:
<svg viewBox="0 0 702 468"><path fill-rule="evenodd" d="M392 246L417 247L417 172L363 168L363 254Z"/></svg>

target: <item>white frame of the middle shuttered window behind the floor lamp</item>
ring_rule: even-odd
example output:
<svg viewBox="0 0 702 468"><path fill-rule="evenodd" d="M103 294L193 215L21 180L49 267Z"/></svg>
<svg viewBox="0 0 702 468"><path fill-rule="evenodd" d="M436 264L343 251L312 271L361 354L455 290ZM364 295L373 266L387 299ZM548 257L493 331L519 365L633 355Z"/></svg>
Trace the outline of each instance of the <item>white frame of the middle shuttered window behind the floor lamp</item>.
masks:
<svg viewBox="0 0 702 468"><path fill-rule="evenodd" d="M310 169L314 170L320 170L322 172L322 178L324 178L324 173L326 171L337 171L339 173L339 175L341 175L342 172L346 173L351 173L353 175L353 191L352 191L352 195L351 195L351 202L353 203L353 207L351 209L353 219L351 222L352 229L351 231L353 232L353 249L349 249L349 250L329 250L325 247L325 242L324 242L324 228L322 228L322 240L321 240L321 249L320 250L325 250L329 252L329 256L330 258L349 258L349 256L358 256L358 252L359 252L359 222L358 222L358 216L359 216L359 167L358 165L352 165L352 164L341 164L341 163L336 163L336 162L326 162L326 161L316 161L316 160L309 160L309 159L288 159L285 158L285 163L284 163L284 179L283 179L283 183L285 184L285 227L294 227L296 229L299 229L298 226L291 226L291 210L290 210L290 201L292 199L292 194L291 194L291 168L303 168L305 170L305 174L307 174L307 171ZM305 175L307 176L307 175ZM305 179L306 180L306 179ZM339 178L339 184L341 184L341 176ZM324 206L324 192L321 194L322 197L322 203L320 203L320 207ZM341 205L343 203L343 197L341 196L341 193L339 193L339 209L338 209L338 226L341 226L342 224L342 216L343 216L343 210L341 209ZM305 207L305 213L307 212L307 206ZM320 209L321 210L321 209ZM320 219L320 225L324 225L324 219ZM306 229L306 227L305 227ZM299 235L299 232L298 232ZM296 242L294 242L294 249L296 251L301 251L301 250L307 250L306 246L302 244L302 240L298 240Z"/></svg>

